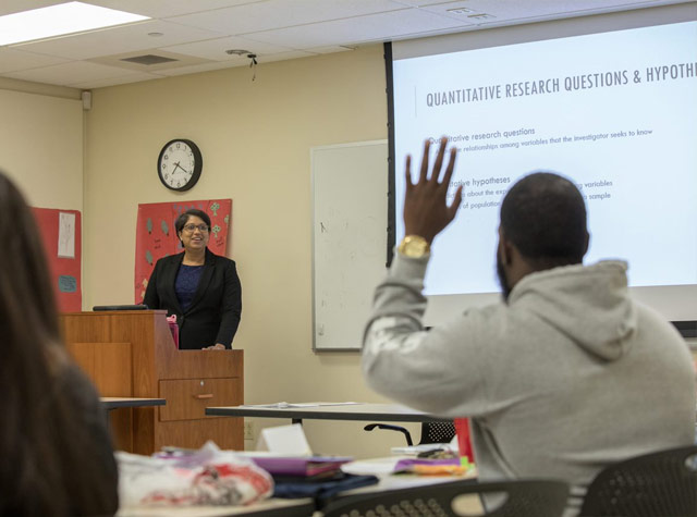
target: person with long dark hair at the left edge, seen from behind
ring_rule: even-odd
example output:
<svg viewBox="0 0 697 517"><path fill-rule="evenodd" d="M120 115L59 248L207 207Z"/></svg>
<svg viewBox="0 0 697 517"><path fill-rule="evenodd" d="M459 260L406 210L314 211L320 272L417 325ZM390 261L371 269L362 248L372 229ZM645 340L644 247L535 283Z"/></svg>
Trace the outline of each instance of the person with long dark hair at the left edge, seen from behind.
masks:
<svg viewBox="0 0 697 517"><path fill-rule="evenodd" d="M0 516L113 515L106 414L61 342L34 216L2 173L0 210Z"/></svg>

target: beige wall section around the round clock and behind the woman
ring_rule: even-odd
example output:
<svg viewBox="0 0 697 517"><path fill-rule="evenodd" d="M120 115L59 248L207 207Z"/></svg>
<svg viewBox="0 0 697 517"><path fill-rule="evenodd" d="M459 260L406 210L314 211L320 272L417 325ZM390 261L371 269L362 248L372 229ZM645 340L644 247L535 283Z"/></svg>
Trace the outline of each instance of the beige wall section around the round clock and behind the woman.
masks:
<svg viewBox="0 0 697 517"><path fill-rule="evenodd" d="M84 306L133 299L139 202L230 197L230 256L243 285L234 346L245 350L246 402L379 401L363 383L358 354L310 349L309 150L386 138L384 88L376 46L260 64L256 81L239 67L94 91L85 126ZM175 137L193 139L204 156L200 181L184 194L157 177L159 150ZM255 432L271 423L288 422L257 419ZM307 421L305 430L321 453L386 455L403 444L363 424Z"/></svg>

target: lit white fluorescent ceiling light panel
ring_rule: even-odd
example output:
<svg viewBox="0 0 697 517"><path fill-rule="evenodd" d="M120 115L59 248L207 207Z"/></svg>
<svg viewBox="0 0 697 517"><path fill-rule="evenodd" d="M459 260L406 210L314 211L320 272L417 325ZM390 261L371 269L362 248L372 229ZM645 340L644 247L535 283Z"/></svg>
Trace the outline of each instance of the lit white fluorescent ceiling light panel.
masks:
<svg viewBox="0 0 697 517"><path fill-rule="evenodd" d="M68 2L0 16L0 45L19 44L149 20L114 9Z"/></svg>

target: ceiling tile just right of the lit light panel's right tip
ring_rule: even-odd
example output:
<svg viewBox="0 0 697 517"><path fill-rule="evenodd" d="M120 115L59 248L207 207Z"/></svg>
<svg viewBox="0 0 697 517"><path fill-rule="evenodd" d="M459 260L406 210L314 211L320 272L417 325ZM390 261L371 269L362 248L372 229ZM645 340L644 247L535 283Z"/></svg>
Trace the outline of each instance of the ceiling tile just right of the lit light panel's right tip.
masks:
<svg viewBox="0 0 697 517"><path fill-rule="evenodd" d="M268 0L170 19L230 35L408 9L392 0Z"/></svg>

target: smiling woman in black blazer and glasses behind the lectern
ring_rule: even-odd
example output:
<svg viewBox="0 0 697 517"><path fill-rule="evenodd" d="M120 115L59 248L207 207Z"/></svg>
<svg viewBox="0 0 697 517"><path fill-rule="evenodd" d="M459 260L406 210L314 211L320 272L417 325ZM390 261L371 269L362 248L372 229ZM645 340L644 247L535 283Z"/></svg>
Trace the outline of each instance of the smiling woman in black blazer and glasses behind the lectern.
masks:
<svg viewBox="0 0 697 517"><path fill-rule="evenodd" d="M232 348L242 313L235 262L208 250L210 218L203 210L185 211L174 227L184 253L157 261L143 303L176 315L180 348Z"/></svg>

